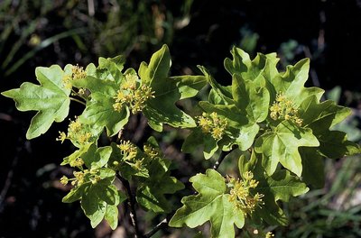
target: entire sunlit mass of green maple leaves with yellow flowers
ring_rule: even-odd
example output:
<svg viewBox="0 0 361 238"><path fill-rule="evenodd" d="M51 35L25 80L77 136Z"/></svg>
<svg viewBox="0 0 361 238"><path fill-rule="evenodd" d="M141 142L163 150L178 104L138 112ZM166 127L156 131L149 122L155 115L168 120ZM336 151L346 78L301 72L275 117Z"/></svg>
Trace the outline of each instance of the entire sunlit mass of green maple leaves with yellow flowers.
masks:
<svg viewBox="0 0 361 238"><path fill-rule="evenodd" d="M324 91L304 87L309 59L279 72L274 53L251 60L241 49L231 52L233 59L225 59L230 86L219 85L203 67L203 76L170 77L171 56L164 45L138 72L124 70L123 56L99 58L98 66L89 64L85 70L71 65L37 68L40 86L23 83L2 94L14 98L20 111L38 111L28 139L63 121L70 100L86 106L70 122L68 133L60 133L61 142L69 140L78 148L62 163L74 168L74 178L61 181L71 180L74 186L63 201L81 200L93 227L105 218L116 228L117 206L126 199L132 202L133 196L143 209L169 214L164 195L183 188L171 177L170 161L153 137L143 150L125 141L97 146L101 133L121 134L130 114L142 112L156 132L162 132L163 124L190 129L184 152L203 146L206 160L217 151L236 154L239 178L222 176L217 169L190 178L197 194L183 197L183 206L169 222L173 227L196 227L209 221L212 237L234 237L234 224L240 229L286 225L277 202L306 193L307 186L322 187L324 157L340 158L360 148L347 141L346 133L332 130L350 110L332 101L319 102ZM175 105L207 84L208 101L199 102L202 115L193 118ZM119 180L125 188L116 186ZM134 195L127 189L129 181L137 185Z"/></svg>

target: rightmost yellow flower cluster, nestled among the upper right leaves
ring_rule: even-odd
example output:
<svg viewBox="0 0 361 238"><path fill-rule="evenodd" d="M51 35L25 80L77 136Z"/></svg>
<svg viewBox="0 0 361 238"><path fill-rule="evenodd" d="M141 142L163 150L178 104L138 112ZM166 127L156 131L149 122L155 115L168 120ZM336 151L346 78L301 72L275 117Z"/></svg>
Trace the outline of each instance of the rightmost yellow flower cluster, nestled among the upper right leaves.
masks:
<svg viewBox="0 0 361 238"><path fill-rule="evenodd" d="M273 120L292 121L299 126L303 123L303 120L298 116L298 109L295 108L292 101L282 93L277 94L270 111L270 116Z"/></svg>

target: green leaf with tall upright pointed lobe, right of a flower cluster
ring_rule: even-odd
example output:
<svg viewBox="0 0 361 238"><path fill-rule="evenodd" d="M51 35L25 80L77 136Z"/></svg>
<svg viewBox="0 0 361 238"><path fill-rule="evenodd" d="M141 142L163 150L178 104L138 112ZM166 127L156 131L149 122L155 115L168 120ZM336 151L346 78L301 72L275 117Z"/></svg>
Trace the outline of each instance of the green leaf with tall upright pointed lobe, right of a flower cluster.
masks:
<svg viewBox="0 0 361 238"><path fill-rule="evenodd" d="M174 127L195 127L190 115L181 111L175 103L180 99L195 96L199 89L206 85L203 76L169 77L171 54L166 45L156 51L149 65L143 62L139 68L139 76L144 84L152 87L153 98L149 98L143 109L148 124L158 132L162 132L162 124Z"/></svg>

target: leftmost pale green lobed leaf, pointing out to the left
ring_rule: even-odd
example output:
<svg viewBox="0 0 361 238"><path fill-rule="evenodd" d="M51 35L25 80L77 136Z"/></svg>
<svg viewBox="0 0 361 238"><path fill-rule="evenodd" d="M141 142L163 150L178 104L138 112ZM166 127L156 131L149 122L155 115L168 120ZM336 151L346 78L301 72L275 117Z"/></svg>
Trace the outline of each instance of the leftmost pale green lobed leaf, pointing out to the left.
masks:
<svg viewBox="0 0 361 238"><path fill-rule="evenodd" d="M35 69L36 79L41 84L23 83L20 88L11 89L2 95L11 97L19 111L38 111L32 117L32 122L26 133L27 139L33 139L46 133L53 122L62 122L69 114L70 89L64 87L62 78L71 71L71 66L65 67L65 72L59 66Z"/></svg>

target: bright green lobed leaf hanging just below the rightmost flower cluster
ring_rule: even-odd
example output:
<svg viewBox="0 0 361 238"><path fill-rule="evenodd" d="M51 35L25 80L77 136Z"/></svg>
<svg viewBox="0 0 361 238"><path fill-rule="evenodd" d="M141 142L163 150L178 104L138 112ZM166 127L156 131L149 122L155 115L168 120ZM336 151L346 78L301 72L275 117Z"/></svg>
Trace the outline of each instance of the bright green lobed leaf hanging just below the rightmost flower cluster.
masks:
<svg viewBox="0 0 361 238"><path fill-rule="evenodd" d="M283 121L272 131L262 134L255 141L255 151L263 154L262 165L272 175L280 162L285 168L301 176L302 162L298 148L317 147L319 141L309 128L299 128Z"/></svg>

